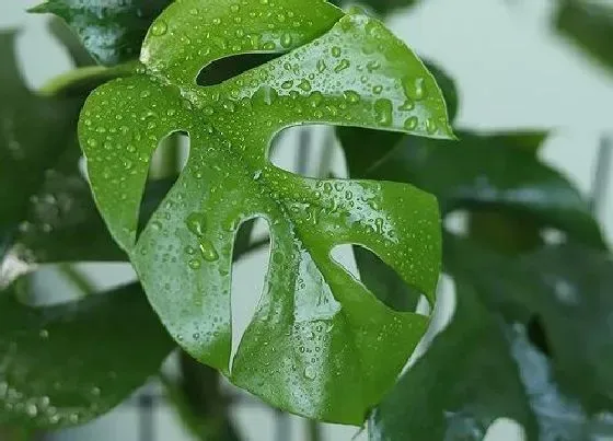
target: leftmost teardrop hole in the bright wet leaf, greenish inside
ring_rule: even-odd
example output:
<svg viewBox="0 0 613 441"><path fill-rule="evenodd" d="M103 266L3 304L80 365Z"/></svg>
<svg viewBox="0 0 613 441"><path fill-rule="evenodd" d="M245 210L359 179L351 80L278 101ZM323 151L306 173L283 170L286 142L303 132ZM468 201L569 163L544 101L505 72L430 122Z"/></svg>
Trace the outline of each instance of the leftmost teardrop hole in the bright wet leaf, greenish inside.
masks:
<svg viewBox="0 0 613 441"><path fill-rule="evenodd" d="M189 155L189 137L175 131L159 143L149 166L149 179L140 202L137 240L183 172Z"/></svg>

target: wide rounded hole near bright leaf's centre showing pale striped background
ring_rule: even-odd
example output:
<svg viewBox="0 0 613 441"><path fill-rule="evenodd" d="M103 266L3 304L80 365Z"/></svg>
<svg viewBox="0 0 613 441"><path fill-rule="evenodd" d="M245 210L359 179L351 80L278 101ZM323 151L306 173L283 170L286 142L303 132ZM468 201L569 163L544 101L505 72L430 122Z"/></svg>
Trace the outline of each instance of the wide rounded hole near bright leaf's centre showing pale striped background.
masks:
<svg viewBox="0 0 613 441"><path fill-rule="evenodd" d="M347 164L334 128L321 125L288 127L275 136L268 160L304 177L346 177Z"/></svg>

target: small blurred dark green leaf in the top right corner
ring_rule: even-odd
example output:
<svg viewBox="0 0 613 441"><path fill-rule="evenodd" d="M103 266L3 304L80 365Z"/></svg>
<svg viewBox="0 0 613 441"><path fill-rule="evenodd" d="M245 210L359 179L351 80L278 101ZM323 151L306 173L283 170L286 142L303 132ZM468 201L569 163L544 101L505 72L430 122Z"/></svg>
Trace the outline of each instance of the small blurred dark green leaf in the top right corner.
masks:
<svg viewBox="0 0 613 441"><path fill-rule="evenodd" d="M592 0L562 0L556 15L559 33L613 69L613 7Z"/></svg>

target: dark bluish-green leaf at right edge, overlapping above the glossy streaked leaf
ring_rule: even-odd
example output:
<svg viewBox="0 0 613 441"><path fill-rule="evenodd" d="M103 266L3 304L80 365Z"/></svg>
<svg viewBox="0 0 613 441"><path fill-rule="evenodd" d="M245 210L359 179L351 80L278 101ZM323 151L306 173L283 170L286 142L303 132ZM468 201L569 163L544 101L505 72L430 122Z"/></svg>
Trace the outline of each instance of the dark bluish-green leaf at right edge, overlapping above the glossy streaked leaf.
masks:
<svg viewBox="0 0 613 441"><path fill-rule="evenodd" d="M613 260L609 252L578 244L547 246L506 257L469 241L446 240L446 265L478 286L489 307L508 321L542 327L544 350L563 392L587 413L613 410ZM521 315L509 315L511 309Z"/></svg>

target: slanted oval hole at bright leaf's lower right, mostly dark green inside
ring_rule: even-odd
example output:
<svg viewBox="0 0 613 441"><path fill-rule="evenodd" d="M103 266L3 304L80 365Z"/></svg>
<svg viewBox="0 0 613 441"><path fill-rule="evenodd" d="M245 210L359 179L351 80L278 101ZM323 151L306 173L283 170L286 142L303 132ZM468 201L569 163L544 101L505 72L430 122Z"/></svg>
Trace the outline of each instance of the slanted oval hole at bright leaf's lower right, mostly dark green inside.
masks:
<svg viewBox="0 0 613 441"><path fill-rule="evenodd" d="M361 245L337 245L332 249L331 256L388 307L424 315L429 313L429 303L419 289L406 283L370 249Z"/></svg>

